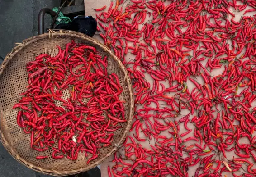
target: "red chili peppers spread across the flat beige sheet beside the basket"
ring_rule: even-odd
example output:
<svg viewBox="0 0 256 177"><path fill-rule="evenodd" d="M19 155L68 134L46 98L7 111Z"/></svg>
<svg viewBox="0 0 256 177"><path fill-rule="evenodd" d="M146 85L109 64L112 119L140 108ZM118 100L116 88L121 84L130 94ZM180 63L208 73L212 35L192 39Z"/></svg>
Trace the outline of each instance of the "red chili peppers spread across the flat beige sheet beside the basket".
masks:
<svg viewBox="0 0 256 177"><path fill-rule="evenodd" d="M95 9L97 30L128 68L135 95L135 133L115 153L109 177L256 176L255 7L117 0Z"/></svg>

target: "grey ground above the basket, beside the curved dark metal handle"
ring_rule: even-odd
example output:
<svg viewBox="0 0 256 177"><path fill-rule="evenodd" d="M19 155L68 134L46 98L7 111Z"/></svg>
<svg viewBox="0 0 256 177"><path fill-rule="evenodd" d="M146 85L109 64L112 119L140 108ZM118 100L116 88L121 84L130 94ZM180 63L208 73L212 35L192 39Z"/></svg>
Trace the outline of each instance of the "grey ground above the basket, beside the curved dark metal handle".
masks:
<svg viewBox="0 0 256 177"><path fill-rule="evenodd" d="M43 7L59 7L59 1L1 1L1 57L5 58L16 42L38 34L38 13ZM45 27L50 25L45 15Z"/></svg>

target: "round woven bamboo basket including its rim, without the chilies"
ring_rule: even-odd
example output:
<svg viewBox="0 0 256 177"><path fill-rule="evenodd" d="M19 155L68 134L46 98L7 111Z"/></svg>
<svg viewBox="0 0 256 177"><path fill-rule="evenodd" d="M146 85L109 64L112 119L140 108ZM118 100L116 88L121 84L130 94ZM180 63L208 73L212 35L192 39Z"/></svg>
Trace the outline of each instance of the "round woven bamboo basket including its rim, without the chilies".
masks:
<svg viewBox="0 0 256 177"><path fill-rule="evenodd" d="M32 61L35 56L42 53L55 56L58 53L56 45L65 48L65 44L74 40L95 46L100 54L108 56L108 72L116 73L119 77L123 93L120 100L124 103L125 118L127 122L119 123L122 126L114 132L114 141L111 146L101 148L97 159L86 165L87 159L84 153L80 153L76 161L67 158L52 159L51 150L38 152L30 149L30 134L25 134L16 122L17 110L12 109L21 96L19 93L26 91L28 73L26 64ZM54 175L65 176L87 171L96 167L113 154L122 145L127 136L133 118L133 89L128 72L117 58L106 46L82 33L73 31L50 31L49 33L31 37L17 43L17 46L9 53L1 65L1 142L8 152L20 163L35 171ZM68 93L62 96L63 99L69 97ZM38 155L48 155L51 158L38 160ZM90 156L88 157L90 158Z"/></svg>

